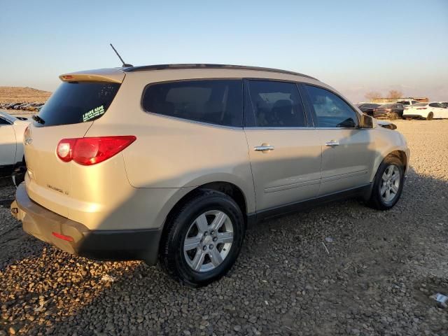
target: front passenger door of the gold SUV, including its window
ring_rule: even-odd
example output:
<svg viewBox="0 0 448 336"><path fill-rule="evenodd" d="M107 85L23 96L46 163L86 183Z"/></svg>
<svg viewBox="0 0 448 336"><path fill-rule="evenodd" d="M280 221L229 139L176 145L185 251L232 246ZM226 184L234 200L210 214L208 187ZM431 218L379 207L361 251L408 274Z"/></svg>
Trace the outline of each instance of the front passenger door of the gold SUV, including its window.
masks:
<svg viewBox="0 0 448 336"><path fill-rule="evenodd" d="M369 183L375 153L370 130L359 127L358 113L335 92L308 84L302 87L322 146L318 195Z"/></svg>

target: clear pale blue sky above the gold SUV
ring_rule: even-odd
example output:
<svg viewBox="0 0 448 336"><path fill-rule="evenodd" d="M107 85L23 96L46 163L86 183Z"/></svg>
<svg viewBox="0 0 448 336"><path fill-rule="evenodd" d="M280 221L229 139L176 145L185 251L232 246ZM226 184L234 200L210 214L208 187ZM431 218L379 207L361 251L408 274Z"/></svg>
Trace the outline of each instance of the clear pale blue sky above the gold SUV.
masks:
<svg viewBox="0 0 448 336"><path fill-rule="evenodd" d="M69 71L218 63L306 73L365 93L448 100L448 0L0 0L0 86Z"/></svg>

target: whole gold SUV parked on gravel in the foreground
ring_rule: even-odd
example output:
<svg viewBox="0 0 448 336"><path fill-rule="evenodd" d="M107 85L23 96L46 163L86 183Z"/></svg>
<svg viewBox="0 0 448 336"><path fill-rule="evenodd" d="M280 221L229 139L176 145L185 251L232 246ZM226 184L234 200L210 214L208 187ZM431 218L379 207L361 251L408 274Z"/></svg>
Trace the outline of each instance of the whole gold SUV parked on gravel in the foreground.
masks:
<svg viewBox="0 0 448 336"><path fill-rule="evenodd" d="M402 135L300 73L170 64L67 73L25 132L23 229L102 260L223 276L246 228L340 197L400 198Z"/></svg>

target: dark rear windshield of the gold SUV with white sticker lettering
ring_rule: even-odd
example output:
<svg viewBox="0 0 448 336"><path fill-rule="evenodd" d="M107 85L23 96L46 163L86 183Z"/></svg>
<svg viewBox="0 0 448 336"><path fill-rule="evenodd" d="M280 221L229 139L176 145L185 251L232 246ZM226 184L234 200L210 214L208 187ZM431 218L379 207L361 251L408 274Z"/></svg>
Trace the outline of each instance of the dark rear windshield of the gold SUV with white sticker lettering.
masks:
<svg viewBox="0 0 448 336"><path fill-rule="evenodd" d="M36 126L86 123L106 113L120 84L106 82L64 82L38 113Z"/></svg>

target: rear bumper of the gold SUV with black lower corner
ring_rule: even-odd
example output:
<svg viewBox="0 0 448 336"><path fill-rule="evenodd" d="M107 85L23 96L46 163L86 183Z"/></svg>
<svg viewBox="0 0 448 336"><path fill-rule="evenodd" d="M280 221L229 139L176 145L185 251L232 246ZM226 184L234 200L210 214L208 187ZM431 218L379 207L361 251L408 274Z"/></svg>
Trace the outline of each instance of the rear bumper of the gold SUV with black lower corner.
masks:
<svg viewBox="0 0 448 336"><path fill-rule="evenodd" d="M73 255L98 260L145 260L150 265L157 262L162 230L89 230L33 202L25 183L18 186L11 213L22 221L29 235ZM71 241L55 234L70 237Z"/></svg>

